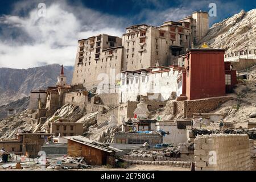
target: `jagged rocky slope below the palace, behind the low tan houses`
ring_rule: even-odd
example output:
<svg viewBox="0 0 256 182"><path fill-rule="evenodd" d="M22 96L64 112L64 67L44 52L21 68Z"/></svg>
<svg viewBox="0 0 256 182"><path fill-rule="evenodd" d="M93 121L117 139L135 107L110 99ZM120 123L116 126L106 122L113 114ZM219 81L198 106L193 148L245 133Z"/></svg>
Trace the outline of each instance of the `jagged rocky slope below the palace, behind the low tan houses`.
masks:
<svg viewBox="0 0 256 182"><path fill-rule="evenodd" d="M109 109L106 115L111 115L113 109ZM55 112L51 117L47 118L46 123L37 125L37 120L32 118L32 115L24 110L9 118L0 121L0 139L14 139L18 130L32 131L46 131L48 122L56 122L58 118L67 118L71 122L81 122L84 126L84 135L90 139L98 140L102 143L111 143L113 135L117 131L117 127L109 127L110 118L106 117L100 125L97 125L97 114L88 113L79 109L78 106L64 105Z"/></svg>

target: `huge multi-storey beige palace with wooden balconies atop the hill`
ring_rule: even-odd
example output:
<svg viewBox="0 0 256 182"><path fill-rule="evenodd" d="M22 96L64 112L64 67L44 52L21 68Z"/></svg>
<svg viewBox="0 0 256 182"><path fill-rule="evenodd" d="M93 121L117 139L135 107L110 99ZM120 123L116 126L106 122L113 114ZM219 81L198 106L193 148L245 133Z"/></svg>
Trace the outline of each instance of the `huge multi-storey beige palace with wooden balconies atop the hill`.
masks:
<svg viewBox="0 0 256 182"><path fill-rule="evenodd" d="M177 65L177 56L208 30L208 13L195 11L178 22L168 21L158 27L130 26L122 38L102 34L79 40L72 84L84 84L87 89L115 88L122 71Z"/></svg>

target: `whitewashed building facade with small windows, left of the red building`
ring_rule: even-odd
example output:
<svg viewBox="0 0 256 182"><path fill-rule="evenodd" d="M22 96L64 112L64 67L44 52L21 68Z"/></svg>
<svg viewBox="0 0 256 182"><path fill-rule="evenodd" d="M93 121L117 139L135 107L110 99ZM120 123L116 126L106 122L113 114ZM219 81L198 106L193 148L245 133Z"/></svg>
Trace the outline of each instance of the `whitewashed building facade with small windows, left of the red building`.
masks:
<svg viewBox="0 0 256 182"><path fill-rule="evenodd" d="M166 101L171 96L177 96L178 72L179 68L174 66L122 72L119 102L137 101L138 95L156 101Z"/></svg>

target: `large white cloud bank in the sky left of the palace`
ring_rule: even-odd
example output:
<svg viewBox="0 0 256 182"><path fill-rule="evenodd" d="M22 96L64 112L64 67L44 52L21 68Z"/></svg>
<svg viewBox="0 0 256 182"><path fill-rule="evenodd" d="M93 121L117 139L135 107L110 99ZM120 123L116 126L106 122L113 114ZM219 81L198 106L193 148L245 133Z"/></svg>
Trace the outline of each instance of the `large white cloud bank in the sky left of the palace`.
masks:
<svg viewBox="0 0 256 182"><path fill-rule="evenodd" d="M40 18L37 9L25 17L2 16L3 35L18 32L18 38L0 36L0 67L28 68L42 63L73 65L77 40L102 33L121 36L121 22L127 21L63 2L47 6L46 17Z"/></svg>

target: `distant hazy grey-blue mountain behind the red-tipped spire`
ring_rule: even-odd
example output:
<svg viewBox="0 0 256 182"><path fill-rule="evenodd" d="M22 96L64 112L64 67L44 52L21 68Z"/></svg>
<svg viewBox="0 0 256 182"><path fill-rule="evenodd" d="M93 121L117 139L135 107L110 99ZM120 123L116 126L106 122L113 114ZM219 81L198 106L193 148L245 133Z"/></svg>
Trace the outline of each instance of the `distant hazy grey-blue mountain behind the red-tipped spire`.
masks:
<svg viewBox="0 0 256 182"><path fill-rule="evenodd" d="M28 97L31 90L55 86L60 75L59 64L28 69L0 68L0 106ZM72 68L64 68L68 84L71 83Z"/></svg>

